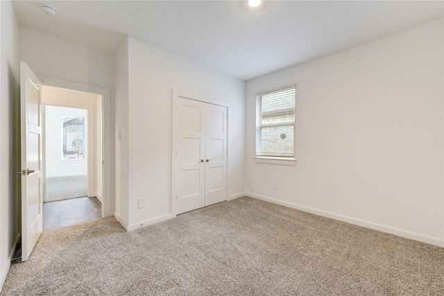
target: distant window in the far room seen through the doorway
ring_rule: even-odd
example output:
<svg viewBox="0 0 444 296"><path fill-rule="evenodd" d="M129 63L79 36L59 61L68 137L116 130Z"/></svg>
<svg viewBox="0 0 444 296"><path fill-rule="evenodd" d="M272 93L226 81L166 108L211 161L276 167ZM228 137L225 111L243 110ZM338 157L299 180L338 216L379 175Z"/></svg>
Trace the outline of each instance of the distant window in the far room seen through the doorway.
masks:
<svg viewBox="0 0 444 296"><path fill-rule="evenodd" d="M63 159L83 159L85 117L62 116Z"/></svg>

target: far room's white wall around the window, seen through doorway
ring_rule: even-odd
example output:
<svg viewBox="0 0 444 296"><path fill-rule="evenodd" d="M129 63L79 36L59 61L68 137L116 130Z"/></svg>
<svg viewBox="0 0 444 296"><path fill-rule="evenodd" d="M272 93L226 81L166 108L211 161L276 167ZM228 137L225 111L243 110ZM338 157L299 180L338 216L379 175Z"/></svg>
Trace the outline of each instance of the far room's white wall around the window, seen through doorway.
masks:
<svg viewBox="0 0 444 296"><path fill-rule="evenodd" d="M86 109L59 106L45 107L46 178L85 175L88 173L87 159L64 160L62 157L62 116L84 117L87 124ZM87 131L86 124L85 131Z"/></svg>

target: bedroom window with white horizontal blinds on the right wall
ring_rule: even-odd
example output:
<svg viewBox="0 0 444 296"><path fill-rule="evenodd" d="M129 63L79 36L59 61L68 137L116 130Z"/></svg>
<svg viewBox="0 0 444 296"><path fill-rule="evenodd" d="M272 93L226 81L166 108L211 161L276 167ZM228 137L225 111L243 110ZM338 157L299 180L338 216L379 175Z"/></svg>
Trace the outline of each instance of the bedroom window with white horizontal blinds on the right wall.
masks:
<svg viewBox="0 0 444 296"><path fill-rule="evenodd" d="M256 156L294 157L296 88L256 97Z"/></svg>

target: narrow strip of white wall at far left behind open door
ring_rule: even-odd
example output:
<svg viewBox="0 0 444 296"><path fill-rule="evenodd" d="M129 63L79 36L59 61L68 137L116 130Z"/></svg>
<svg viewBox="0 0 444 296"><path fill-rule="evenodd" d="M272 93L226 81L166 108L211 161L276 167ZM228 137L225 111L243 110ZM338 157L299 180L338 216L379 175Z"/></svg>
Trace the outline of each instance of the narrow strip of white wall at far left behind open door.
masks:
<svg viewBox="0 0 444 296"><path fill-rule="evenodd" d="M20 231L19 26L10 1L0 1L0 288Z"/></svg>

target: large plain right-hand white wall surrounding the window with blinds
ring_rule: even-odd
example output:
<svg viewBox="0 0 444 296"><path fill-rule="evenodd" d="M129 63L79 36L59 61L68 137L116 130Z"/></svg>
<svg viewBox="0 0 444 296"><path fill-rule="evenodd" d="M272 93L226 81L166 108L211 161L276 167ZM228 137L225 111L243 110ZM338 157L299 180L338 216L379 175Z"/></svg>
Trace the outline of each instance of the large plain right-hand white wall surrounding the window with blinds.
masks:
<svg viewBox="0 0 444 296"><path fill-rule="evenodd" d="M443 72L438 19L248 81L248 195L444 246ZM289 83L296 166L255 163L255 94Z"/></svg>

